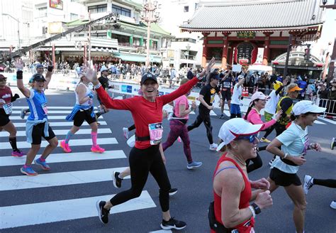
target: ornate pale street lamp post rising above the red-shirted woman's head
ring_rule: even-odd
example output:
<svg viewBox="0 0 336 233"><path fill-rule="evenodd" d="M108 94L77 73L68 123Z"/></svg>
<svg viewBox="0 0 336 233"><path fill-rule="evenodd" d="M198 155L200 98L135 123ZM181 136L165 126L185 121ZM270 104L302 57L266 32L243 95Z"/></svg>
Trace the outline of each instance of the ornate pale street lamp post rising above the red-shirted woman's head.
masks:
<svg viewBox="0 0 336 233"><path fill-rule="evenodd" d="M159 20L159 14L155 13L157 9L157 1L151 0L143 1L142 20L147 23L147 55L146 55L146 67L150 65L150 24Z"/></svg>

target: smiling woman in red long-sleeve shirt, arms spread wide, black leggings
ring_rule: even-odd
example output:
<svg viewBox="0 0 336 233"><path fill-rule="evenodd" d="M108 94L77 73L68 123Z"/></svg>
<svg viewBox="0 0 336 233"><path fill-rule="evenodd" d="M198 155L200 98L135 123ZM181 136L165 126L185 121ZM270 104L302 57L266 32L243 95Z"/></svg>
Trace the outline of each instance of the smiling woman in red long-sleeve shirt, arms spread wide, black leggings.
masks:
<svg viewBox="0 0 336 233"><path fill-rule="evenodd" d="M214 59L209 63L206 71L210 70L214 64ZM148 174L151 173L159 185L159 202L162 209L162 229L184 229L186 223L174 220L169 212L169 190L171 188L167 170L159 153L159 143L162 139L162 107L164 104L172 102L177 97L186 94L196 83L198 78L202 78L205 70L194 77L185 85L181 85L178 90L161 97L157 97L157 79L155 75L147 73L142 76L141 90L142 97L133 97L130 99L111 99L99 80L96 72L90 68L85 68L86 77L91 77L95 85L96 92L101 102L108 109L124 109L132 113L135 122L135 147L130 151L130 179L131 188L116 194L111 200L105 202L99 200L96 203L99 212L99 220L102 223L108 223L108 214L111 207L120 205L123 202L139 197L147 181Z"/></svg>

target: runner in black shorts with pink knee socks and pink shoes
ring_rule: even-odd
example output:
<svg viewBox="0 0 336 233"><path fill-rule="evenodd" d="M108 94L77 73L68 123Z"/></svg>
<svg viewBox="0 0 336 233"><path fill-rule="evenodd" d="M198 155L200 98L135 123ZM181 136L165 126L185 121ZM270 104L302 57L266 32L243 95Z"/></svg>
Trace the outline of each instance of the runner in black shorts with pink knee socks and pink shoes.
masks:
<svg viewBox="0 0 336 233"><path fill-rule="evenodd" d="M76 94L76 104L72 109L72 112L66 117L67 121L74 121L74 125L67 132L65 140L62 140L60 146L63 148L65 153L72 152L69 141L74 136L74 134L79 131L80 126L86 121L91 127L91 139L92 147L91 151L94 153L103 153L105 149L101 148L97 144L98 137L98 125L96 122L96 117L94 116L94 92L92 91L92 83L89 82L87 77L82 73L79 75L80 82L74 90ZM91 85L90 85L91 84Z"/></svg>

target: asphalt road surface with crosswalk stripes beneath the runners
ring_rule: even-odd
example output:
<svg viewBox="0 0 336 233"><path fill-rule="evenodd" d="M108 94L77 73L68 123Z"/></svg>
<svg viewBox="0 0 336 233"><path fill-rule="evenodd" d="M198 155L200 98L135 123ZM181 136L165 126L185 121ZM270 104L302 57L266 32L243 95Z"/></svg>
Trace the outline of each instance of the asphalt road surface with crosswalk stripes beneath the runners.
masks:
<svg viewBox="0 0 336 233"><path fill-rule="evenodd" d="M54 111L69 111L65 108L52 109L52 107L72 107L75 102L73 92L50 90L47 91L47 98L49 109ZM26 100L18 99L14 106L27 106ZM218 110L215 112L218 113ZM50 114L50 116L65 115L67 114ZM19 116L19 114L16 113L13 116ZM191 115L190 118L189 124L194 121L196 115ZM50 121L65 122L64 119L50 119ZM118 213L110 215L108 224L102 225L99 222L94 207L99 196L111 197L120 190L130 188L129 179L123 181L123 187L120 190L114 188L110 179L111 171L103 169L128 166L128 159L125 156L128 156L130 147L125 143L122 127L132 125L133 119L129 112L113 110L104 114L101 121L106 121L107 124L101 125L100 129L111 129L111 133L99 134L99 139L113 141L115 138L117 141L113 144L101 144L101 147L106 151L111 151L107 155L108 157L99 159L99 156L103 155L92 154L91 158L84 161L80 158L77 159L72 153L62 155L62 149L56 148L53 153L60 153L60 156L55 158L54 163L50 163L52 170L49 173L60 173L62 178L57 180L57 175L55 181L53 177L45 176L47 184L60 182L57 185L50 185L50 187L34 180L43 177L44 174L49 175L48 173L40 172L40 168L34 167L43 175L27 179L20 173L21 165L12 164L11 150L1 148L0 158L4 159L3 161L9 161L9 164L0 164L0 232L151 232L160 229L159 223L162 216L159 207L159 192L157 183L152 176L147 180L144 197L141 200L134 202L134 204L120 205ZM213 136L217 140L218 130L225 119L212 116L211 121ZM305 174L313 175L316 178L336 178L335 165L332 165L336 163L336 151L331 151L329 148L331 137L336 136L336 125L320 119L319 121L323 124L315 124L309 128L310 141L319 142L323 146L323 151L320 153L308 152L307 163L301 166L298 172L301 180ZM18 124L24 121L13 119L13 122ZM70 126L61 124L61 126L53 126L52 128L67 131ZM83 129L89 129L89 127L83 126ZM167 120L164 120L164 129L165 132L169 131ZM24 131L24 127L18 127L18 131ZM171 148L167 149L165 156L169 179L172 187L179 189L178 193L170 199L170 211L173 217L187 223L186 229L181 232L209 232L207 209L209 202L213 200L212 176L220 153L209 151L203 125L191 131L189 135L194 161L203 162L203 166L194 170L186 169L182 143L175 142ZM274 134L271 134L270 138L273 137ZM65 139L65 135L57 135L57 138L59 140ZM164 134L164 139L166 138L167 133ZM72 141L77 139L90 140L90 134L78 134L74 136ZM24 136L18 136L18 141L23 142L26 139ZM70 145L72 145L72 141L70 141ZM6 142L8 142L8 137L0 136L1 146L4 146ZM72 151L74 153L89 152L90 147L91 142L84 142L82 146L72 146ZM123 151L125 156L122 156L123 153L121 153L120 158L113 158L117 153L116 150ZM28 148L25 151L28 151ZM249 174L251 180L269 175L268 162L272 156L264 151L260 154L264 166ZM66 156L70 161L62 162L63 157L61 156ZM18 159L20 160L20 158ZM18 163L23 163L24 159L20 161ZM77 175L72 173L77 171L79 171ZM99 177L103 176L103 178L95 182L96 174ZM62 175L68 176L63 178ZM76 177L74 184L67 183L69 177ZM28 185L28 187L24 188L24 185ZM35 185L36 188L29 188L30 185ZM149 198L146 199L145 196L148 197L148 195ZM262 214L256 218L256 232L295 232L292 218L293 204L284 189L279 188L272 193L272 197L273 207L262 211ZM318 186L310 189L307 195L306 232L336 232L336 210L329 207L332 200L336 200L335 190ZM135 208L139 210L134 210Z"/></svg>

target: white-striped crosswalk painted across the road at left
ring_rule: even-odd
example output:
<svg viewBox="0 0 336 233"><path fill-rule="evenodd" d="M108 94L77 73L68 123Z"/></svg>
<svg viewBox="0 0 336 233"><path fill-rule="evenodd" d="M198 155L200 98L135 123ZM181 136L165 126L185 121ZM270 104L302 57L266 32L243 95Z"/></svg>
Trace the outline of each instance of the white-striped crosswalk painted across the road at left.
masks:
<svg viewBox="0 0 336 233"><path fill-rule="evenodd" d="M17 144L18 148L28 151L30 143L26 142L25 121L20 117L20 109L26 107L13 107L13 114L10 116L11 121L17 129ZM66 121L65 116L71 112L72 107L48 107L50 119L50 126L52 126L55 135L61 141L65 139L67 131L72 126L72 122ZM103 145L117 145L118 141L113 137L113 131L109 128L103 116L99 118L99 138L97 143ZM0 196L3 200L1 193L6 193L6 197L16 196L17 192L29 194L30 192L37 192L48 188L49 195L52 195L52 200L47 202L34 200L34 196L28 198L19 205L11 205L11 202L1 202L0 205L0 232L1 229L9 229L15 227L26 227L35 224L48 224L52 222L61 222L71 220L84 219L95 217L97 222L96 201L108 200L113 197L113 192L116 189L111 188L111 175L113 170L121 172L128 166L127 156L123 150L106 150L105 153L91 153L91 129L86 122L81 129L69 142L72 148L72 153L62 153L60 148L57 148L47 158L47 163L52 170L43 171L38 166L33 164L33 168L40 173L34 177L28 177L20 173L20 168L26 161L26 156L16 158L11 156L11 145L8 142L9 133L6 131L0 132L0 171L10 170L9 175L5 172L0 174ZM42 141L41 150L47 146L47 141ZM109 148L111 148L109 146ZM84 151L85 150L85 151ZM40 155L36 156L38 158ZM121 161L123 166L115 166L113 168L100 168L96 164L111 163L113 161ZM69 168L62 168L63 165L67 166L68 163L80 164L81 166L72 166ZM120 163L120 162L119 162ZM82 168L82 165L85 168ZM62 168L58 169L57 168ZM125 177L129 179L130 177ZM90 195L83 193L82 195L74 195L71 198L62 197L60 190L76 189L78 185L84 187L91 187L91 185L108 182L109 187L106 190L106 195ZM57 190L55 193L52 190ZM51 193L50 193L51 192ZM11 193L11 195L9 195ZM7 198L8 199L8 198ZM148 208L157 207L154 200L147 190L143 190L140 197L117 205L111 210L111 214L130 212L137 210L145 210ZM78 211L80 210L80 211ZM29 214L27 214L29 213Z"/></svg>

